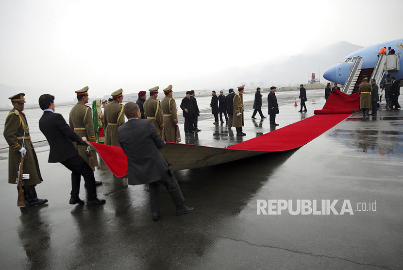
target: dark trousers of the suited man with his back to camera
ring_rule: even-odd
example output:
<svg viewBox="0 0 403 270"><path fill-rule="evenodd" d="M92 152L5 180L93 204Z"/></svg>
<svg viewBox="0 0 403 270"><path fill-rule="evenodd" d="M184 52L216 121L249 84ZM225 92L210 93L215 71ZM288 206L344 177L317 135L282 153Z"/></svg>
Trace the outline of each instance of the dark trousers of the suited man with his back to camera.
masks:
<svg viewBox="0 0 403 270"><path fill-rule="evenodd" d="M166 172L161 180L149 184L151 212L160 213L160 185L165 186L177 208L185 204L185 198L178 181L175 176L170 176L168 172Z"/></svg>

